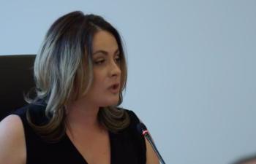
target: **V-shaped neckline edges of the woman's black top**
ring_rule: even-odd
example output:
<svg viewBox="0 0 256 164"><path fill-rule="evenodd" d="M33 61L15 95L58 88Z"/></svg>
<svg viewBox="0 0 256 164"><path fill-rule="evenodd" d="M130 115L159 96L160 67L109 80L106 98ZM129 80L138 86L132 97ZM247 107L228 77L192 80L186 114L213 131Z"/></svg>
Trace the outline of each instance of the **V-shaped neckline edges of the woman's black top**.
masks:
<svg viewBox="0 0 256 164"><path fill-rule="evenodd" d="M110 142L110 164L112 164L113 163L113 134L109 130L108 130L108 138ZM83 155L79 152L78 148L75 147L75 144L73 144L69 136L67 136L67 133L64 134L64 140L67 141L67 144L69 144L73 152L80 157L81 163L90 164L86 161L86 158L83 157Z"/></svg>

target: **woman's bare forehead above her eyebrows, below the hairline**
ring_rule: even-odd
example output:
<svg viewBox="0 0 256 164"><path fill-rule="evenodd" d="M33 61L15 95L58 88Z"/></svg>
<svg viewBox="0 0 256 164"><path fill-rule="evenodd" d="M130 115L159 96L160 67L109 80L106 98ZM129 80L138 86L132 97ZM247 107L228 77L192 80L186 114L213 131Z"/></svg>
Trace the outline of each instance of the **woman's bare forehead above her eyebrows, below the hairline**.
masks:
<svg viewBox="0 0 256 164"><path fill-rule="evenodd" d="M105 50L108 52L118 50L115 36L108 31L97 31L97 33L94 34L92 41L92 51L96 52L98 50Z"/></svg>

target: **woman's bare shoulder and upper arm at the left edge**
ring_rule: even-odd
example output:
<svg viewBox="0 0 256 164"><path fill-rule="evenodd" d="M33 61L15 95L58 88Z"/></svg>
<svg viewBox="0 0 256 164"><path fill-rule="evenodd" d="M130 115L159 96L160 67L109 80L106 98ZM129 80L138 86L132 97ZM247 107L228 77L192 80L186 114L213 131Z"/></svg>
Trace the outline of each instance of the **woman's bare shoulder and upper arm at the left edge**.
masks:
<svg viewBox="0 0 256 164"><path fill-rule="evenodd" d="M23 123L18 115L12 114L0 122L0 161L26 163Z"/></svg>

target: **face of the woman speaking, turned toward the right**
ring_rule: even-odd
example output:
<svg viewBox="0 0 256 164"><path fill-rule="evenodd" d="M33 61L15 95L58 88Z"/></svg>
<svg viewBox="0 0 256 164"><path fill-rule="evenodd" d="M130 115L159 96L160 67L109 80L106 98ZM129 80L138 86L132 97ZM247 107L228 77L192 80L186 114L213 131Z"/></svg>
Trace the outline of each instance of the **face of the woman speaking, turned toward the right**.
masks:
<svg viewBox="0 0 256 164"><path fill-rule="evenodd" d="M108 31L98 31L92 42L94 81L86 100L97 106L118 104L121 69L116 38Z"/></svg>

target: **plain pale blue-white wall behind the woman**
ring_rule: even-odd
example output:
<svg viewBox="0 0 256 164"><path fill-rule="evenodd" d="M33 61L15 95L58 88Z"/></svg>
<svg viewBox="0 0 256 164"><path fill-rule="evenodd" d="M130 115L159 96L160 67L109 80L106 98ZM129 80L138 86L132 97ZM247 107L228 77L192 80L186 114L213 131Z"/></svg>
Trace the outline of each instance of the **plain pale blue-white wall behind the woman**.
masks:
<svg viewBox="0 0 256 164"><path fill-rule="evenodd" d="M36 53L50 24L73 10L121 32L123 106L146 122L166 163L256 153L256 1L1 0L0 54Z"/></svg>

